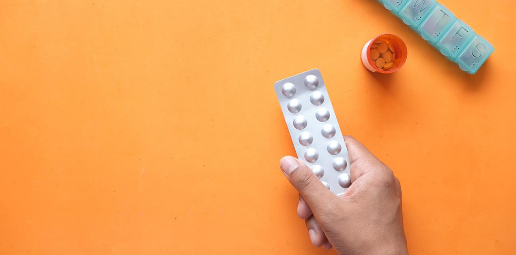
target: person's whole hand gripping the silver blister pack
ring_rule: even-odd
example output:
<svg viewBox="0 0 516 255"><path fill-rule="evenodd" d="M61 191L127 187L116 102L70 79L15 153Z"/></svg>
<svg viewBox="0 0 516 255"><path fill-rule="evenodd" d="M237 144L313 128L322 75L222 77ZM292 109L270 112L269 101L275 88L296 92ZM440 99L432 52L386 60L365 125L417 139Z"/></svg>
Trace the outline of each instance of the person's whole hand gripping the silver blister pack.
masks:
<svg viewBox="0 0 516 255"><path fill-rule="evenodd" d="M300 160L286 156L280 168L299 192L297 214L312 244L338 254L408 254L401 215L401 186L391 168L364 145L344 137L351 186L335 196Z"/></svg>

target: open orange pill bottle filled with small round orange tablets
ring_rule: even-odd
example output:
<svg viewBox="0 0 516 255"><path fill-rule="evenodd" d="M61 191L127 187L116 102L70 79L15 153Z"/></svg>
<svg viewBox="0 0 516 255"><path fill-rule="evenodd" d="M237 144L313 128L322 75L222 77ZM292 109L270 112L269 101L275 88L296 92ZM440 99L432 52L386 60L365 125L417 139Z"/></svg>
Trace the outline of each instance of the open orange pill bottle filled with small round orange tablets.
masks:
<svg viewBox="0 0 516 255"><path fill-rule="evenodd" d="M386 44L386 49L382 43ZM407 60L407 45L399 37L384 33L365 43L361 59L365 68L371 72L394 73Z"/></svg>

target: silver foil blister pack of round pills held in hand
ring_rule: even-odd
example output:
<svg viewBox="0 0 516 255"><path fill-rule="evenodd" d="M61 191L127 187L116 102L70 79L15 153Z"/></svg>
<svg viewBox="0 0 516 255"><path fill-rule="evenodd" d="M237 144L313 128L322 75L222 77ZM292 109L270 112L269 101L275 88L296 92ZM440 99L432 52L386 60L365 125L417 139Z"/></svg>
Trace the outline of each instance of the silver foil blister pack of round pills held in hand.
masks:
<svg viewBox="0 0 516 255"><path fill-rule="evenodd" d="M274 89L298 158L331 192L344 194L351 185L348 150L319 70L280 80Z"/></svg>

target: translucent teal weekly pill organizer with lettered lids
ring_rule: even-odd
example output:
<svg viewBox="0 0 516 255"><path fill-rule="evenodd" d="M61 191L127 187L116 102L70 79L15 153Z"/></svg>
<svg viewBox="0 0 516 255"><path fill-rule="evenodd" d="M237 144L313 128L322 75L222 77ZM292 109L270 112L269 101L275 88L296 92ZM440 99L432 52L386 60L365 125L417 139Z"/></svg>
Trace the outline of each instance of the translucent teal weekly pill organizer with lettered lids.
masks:
<svg viewBox="0 0 516 255"><path fill-rule="evenodd" d="M377 0L451 62L475 74L493 46L435 0Z"/></svg>

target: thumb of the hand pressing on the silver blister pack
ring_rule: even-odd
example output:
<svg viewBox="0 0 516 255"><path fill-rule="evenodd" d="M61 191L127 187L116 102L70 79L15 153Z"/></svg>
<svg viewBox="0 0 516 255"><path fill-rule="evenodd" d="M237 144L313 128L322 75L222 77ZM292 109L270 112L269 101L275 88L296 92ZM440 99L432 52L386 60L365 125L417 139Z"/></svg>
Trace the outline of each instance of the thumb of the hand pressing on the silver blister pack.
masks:
<svg viewBox="0 0 516 255"><path fill-rule="evenodd" d="M307 201L312 212L324 210L331 205L331 200L337 196L331 193L324 184L315 176L312 170L300 160L286 156L280 160L281 171L288 181L299 191L299 194Z"/></svg>

